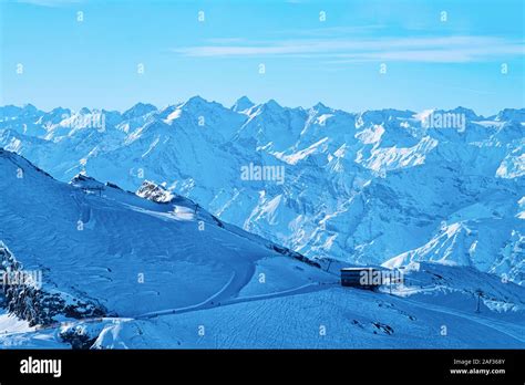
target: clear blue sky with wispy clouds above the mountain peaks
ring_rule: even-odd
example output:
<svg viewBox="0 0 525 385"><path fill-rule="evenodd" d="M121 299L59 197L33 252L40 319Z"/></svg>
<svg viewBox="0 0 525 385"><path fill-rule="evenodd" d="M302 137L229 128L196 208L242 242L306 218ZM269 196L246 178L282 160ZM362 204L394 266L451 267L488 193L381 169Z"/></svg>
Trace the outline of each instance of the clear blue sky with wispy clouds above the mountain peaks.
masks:
<svg viewBox="0 0 525 385"><path fill-rule="evenodd" d="M525 106L521 0L0 1L2 105Z"/></svg>

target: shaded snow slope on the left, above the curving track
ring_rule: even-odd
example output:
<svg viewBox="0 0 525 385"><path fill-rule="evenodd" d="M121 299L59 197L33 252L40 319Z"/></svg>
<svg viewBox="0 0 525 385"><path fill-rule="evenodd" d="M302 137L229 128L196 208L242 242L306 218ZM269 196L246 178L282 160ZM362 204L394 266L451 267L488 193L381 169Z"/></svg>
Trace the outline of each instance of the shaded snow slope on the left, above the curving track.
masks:
<svg viewBox="0 0 525 385"><path fill-rule="evenodd" d="M6 150L0 170L0 239L10 253L25 270L43 270L43 290L90 299L105 314L229 299L272 258L303 264L305 284L322 281L319 269L185 198L159 204L83 176L63 184Z"/></svg>

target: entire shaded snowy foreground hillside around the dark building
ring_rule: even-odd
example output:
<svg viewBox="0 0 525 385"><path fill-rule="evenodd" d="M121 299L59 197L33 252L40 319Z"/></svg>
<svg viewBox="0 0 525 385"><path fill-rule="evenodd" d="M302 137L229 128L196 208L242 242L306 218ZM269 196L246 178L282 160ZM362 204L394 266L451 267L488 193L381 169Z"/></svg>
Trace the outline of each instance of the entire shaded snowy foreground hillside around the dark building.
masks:
<svg viewBox="0 0 525 385"><path fill-rule="evenodd" d="M42 271L3 295L3 348L525 347L525 289L472 267L412 261L403 284L343 288L341 262L153 183L64 184L1 149L0 184L1 266Z"/></svg>

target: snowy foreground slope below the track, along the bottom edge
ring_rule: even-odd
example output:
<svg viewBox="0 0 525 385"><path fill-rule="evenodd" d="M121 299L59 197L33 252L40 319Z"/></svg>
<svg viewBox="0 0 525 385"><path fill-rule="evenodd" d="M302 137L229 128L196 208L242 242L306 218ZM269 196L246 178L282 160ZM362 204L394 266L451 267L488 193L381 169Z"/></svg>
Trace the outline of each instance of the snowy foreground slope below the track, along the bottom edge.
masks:
<svg viewBox="0 0 525 385"><path fill-rule="evenodd" d="M136 319L73 322L54 329L93 339L92 348L523 348L519 313L474 312L429 305L404 296L327 284L230 303L157 312ZM310 288L311 289L311 288ZM443 334L443 327L446 327ZM40 334L11 333L0 341L38 346Z"/></svg>

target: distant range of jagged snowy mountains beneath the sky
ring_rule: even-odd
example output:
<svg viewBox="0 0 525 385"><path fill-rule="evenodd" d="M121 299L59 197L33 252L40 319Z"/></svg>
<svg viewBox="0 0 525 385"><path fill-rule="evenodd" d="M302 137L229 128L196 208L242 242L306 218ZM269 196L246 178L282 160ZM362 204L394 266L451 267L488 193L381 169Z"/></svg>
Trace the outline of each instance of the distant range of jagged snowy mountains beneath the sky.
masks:
<svg viewBox="0 0 525 385"><path fill-rule="evenodd" d="M525 110L351 114L196 96L50 135L68 124L42 126L33 108L3 107L0 145L59 179L155 180L310 258L439 260L524 281Z"/></svg>

